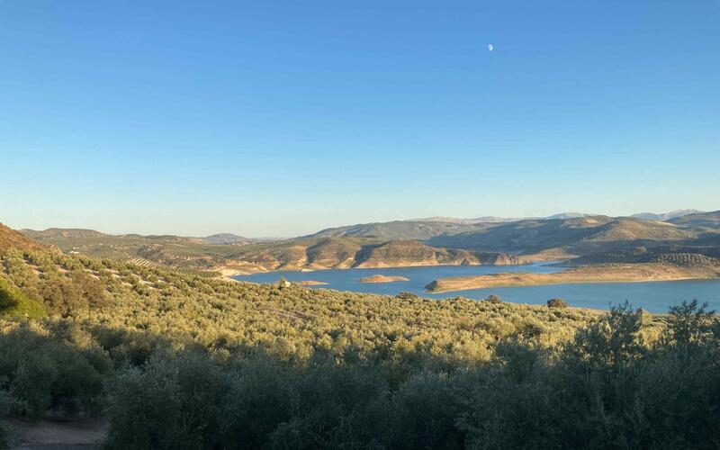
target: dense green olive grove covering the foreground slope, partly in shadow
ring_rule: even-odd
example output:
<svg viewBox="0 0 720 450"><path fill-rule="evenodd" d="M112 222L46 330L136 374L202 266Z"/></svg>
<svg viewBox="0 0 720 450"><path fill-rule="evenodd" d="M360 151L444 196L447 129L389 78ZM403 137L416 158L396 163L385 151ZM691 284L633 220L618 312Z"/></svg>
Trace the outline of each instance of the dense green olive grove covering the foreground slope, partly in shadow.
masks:
<svg viewBox="0 0 720 450"><path fill-rule="evenodd" d="M107 448L720 445L720 327L230 283L11 249L0 413L104 415ZM4 431L0 429L0 441Z"/></svg>

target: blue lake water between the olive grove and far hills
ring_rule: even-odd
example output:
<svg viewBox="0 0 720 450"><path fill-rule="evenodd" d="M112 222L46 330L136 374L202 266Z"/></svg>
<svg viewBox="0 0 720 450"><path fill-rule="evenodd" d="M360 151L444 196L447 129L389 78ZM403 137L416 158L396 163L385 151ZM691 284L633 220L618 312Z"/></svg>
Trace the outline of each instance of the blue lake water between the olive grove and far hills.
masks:
<svg viewBox="0 0 720 450"><path fill-rule="evenodd" d="M550 263L527 266L428 266L393 267L345 270L318 270L314 272L269 272L254 275L238 275L234 278L253 283L275 283L281 276L290 282L315 280L325 282L313 288L353 291L356 293L379 293L395 295L401 292L416 293L422 297L445 299L461 295L470 299L484 299L491 293L505 302L545 304L548 299L561 297L571 306L607 310L610 303L626 300L635 307L647 311L666 312L668 307L684 300L698 299L708 302L710 308L720 310L720 280L691 280L652 283L601 283L601 284L553 284L547 286L500 287L472 289L452 293L426 293L425 285L448 276L487 275L500 272L534 272L547 274L563 270ZM358 280L370 275L400 275L410 281L395 283L360 283Z"/></svg>

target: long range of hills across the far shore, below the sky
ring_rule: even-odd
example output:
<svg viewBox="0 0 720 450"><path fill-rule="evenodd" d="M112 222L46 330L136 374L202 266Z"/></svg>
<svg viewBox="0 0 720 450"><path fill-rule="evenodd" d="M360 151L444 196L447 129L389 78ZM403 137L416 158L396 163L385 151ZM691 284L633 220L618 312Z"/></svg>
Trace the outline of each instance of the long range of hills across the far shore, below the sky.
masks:
<svg viewBox="0 0 720 450"><path fill-rule="evenodd" d="M641 214L642 215L642 214ZM695 248L715 255L720 211L673 211L667 220L580 212L543 219L479 221L393 220L322 229L260 241L233 234L207 238L112 236L92 229L23 229L40 244L92 257L249 273L349 267L507 265L537 260L615 260L637 248ZM679 250L680 251L680 250ZM619 253L618 253L619 252ZM615 255L615 256L610 256Z"/></svg>

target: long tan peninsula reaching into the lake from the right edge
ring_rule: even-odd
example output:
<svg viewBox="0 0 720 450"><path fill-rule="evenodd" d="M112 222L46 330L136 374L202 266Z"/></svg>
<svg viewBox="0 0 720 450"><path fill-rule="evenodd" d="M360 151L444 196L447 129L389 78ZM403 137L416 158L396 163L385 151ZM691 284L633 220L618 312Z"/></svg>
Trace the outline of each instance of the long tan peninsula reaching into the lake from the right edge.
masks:
<svg viewBox="0 0 720 450"><path fill-rule="evenodd" d="M441 278L425 286L428 293L446 293L490 287L539 286L545 284L642 283L720 278L720 264L706 258L702 264L680 266L663 263L601 264L580 266L554 274L507 272L479 276Z"/></svg>

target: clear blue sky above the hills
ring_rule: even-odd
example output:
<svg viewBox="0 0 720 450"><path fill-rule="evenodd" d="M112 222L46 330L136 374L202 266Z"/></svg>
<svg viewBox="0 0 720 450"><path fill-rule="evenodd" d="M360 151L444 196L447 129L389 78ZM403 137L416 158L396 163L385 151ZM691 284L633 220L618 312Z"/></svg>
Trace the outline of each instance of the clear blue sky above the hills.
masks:
<svg viewBox="0 0 720 450"><path fill-rule="evenodd" d="M14 228L718 210L720 2L0 0L0 174Z"/></svg>

